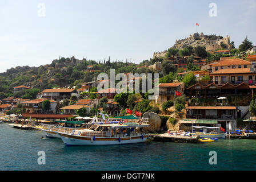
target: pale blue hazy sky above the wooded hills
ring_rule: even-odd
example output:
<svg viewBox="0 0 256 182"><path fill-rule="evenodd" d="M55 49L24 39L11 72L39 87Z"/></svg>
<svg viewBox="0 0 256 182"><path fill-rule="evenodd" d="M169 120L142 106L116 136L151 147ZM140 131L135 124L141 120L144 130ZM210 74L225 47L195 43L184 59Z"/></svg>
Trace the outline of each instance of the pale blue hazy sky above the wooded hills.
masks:
<svg viewBox="0 0 256 182"><path fill-rule="evenodd" d="M1 0L0 22L0 72L59 56L139 63L193 34L195 23L199 33L230 35L236 47L246 35L256 44L255 0Z"/></svg>

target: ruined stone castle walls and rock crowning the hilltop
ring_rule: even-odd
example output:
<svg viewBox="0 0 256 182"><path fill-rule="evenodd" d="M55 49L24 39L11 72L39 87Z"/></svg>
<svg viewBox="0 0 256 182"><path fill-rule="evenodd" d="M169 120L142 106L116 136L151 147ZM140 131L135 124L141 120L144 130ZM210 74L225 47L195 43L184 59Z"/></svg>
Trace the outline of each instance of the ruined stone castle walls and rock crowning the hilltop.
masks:
<svg viewBox="0 0 256 182"><path fill-rule="evenodd" d="M194 33L193 35L190 35L189 38L176 40L173 48L182 49L186 46L205 46L206 51L214 51L215 49L220 49L222 46L226 46L226 48L231 48L230 44L230 36L226 36L223 38L223 36L217 36L217 35L203 35L203 32L201 34ZM162 52L154 52L153 57L160 57L165 56L167 53L167 50Z"/></svg>

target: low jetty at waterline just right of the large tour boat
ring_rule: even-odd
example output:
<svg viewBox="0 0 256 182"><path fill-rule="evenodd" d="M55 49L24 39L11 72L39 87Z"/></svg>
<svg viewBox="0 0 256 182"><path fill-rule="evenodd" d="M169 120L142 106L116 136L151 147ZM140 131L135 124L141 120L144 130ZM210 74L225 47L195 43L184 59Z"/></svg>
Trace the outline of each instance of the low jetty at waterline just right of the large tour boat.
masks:
<svg viewBox="0 0 256 182"><path fill-rule="evenodd" d="M199 136L197 137L182 137L180 135L169 135L167 133L155 135L154 142L180 142L180 143L199 143Z"/></svg>

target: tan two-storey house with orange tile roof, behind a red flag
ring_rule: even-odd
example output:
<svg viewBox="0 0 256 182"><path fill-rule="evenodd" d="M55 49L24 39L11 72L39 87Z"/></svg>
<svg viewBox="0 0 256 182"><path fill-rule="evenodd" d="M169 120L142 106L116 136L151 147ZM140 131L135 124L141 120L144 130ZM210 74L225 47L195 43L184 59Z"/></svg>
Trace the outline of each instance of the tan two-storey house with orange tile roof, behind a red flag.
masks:
<svg viewBox="0 0 256 182"><path fill-rule="evenodd" d="M183 82L173 82L173 83L161 83L159 87L159 96L155 96L155 104L163 104L166 101L174 101L175 91L181 94L185 91L185 84Z"/></svg>

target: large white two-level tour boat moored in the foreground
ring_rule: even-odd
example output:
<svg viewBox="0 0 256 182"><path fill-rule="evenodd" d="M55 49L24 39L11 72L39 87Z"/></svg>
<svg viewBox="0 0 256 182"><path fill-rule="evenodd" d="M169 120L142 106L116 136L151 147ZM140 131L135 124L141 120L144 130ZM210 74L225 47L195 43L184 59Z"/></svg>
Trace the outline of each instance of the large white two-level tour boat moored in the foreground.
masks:
<svg viewBox="0 0 256 182"><path fill-rule="evenodd" d="M119 121L118 123L95 123L89 130L73 130L72 133L56 131L55 133L67 146L141 143L145 142L149 136L142 129L149 126L141 120L138 123Z"/></svg>

